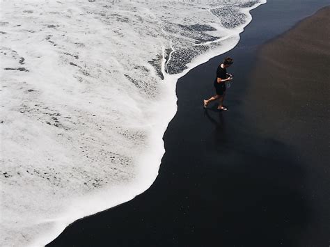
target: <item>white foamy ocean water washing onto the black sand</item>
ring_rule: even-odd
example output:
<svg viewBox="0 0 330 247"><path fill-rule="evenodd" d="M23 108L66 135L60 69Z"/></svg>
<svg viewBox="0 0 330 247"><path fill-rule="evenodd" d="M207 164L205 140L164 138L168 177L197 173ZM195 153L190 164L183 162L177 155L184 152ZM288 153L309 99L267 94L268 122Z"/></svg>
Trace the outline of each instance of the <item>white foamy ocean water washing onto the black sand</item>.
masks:
<svg viewBox="0 0 330 247"><path fill-rule="evenodd" d="M178 78L262 3L2 0L0 245L43 246L146 191Z"/></svg>

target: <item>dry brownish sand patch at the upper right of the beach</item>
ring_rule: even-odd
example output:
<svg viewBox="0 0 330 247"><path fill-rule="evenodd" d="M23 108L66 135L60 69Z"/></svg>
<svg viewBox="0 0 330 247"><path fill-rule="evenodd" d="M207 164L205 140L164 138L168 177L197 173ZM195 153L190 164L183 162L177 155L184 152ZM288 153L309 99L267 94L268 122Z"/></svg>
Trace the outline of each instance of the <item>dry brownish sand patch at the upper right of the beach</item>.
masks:
<svg viewBox="0 0 330 247"><path fill-rule="evenodd" d="M330 7L262 46L250 75L256 83L244 97L245 110L258 112L249 119L253 125L323 165L329 162L322 155L329 152L329 66Z"/></svg>

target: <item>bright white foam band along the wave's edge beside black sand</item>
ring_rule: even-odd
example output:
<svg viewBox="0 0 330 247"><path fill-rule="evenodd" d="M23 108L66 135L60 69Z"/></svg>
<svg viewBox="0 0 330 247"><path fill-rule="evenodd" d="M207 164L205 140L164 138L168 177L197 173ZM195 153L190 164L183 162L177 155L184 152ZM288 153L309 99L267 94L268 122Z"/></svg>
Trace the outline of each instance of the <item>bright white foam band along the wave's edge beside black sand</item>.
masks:
<svg viewBox="0 0 330 247"><path fill-rule="evenodd" d="M164 136L164 132L166 132L166 128L168 127L169 122L173 119L174 115L177 112L177 105L176 105L176 94L175 94L175 85L178 82L178 80L181 77L184 77L185 74L189 73L190 70L193 70L194 67L197 67L198 65L201 65L203 63L207 63L207 61L210 61L210 59L214 58L214 54L220 53L226 53L230 51L231 49L234 49L236 47L237 43L240 40L240 33L244 32L244 29L252 20L252 16L250 14L251 10L258 8L260 5L267 3L266 0L260 0L259 3L256 3L254 6L249 8L244 8L242 13L247 15L247 20L242 26L237 26L234 30L233 37L237 38L237 42L230 44L230 45L224 45L223 47L219 47L218 49L214 49L212 51L208 51L207 53L198 56L197 59L191 61L187 65L187 69L183 70L182 72L178 74L166 74L165 73L165 63L164 60L162 62L162 74L165 75L165 79L163 81L164 85L163 90L166 92L165 95L168 99L163 100L164 102L171 102L171 107L168 107L168 109L162 112L162 118L167 118L168 120L163 122L165 124L159 125L158 123L155 125L158 125L157 128L153 127L154 131L153 134L150 134L150 138L148 143L150 145L150 153L148 155L142 155L140 159L138 159L137 164L139 165L139 172L137 173L137 177L140 177L139 179L136 179L137 182L132 182L132 184L143 184L141 186L130 186L129 193L120 194L120 191L125 191L125 186L112 186L111 188L107 190L92 192L88 196L85 196L86 200L81 200L81 198L76 198L75 200L72 200L71 207L65 213L61 214L58 218L61 218L61 220L55 219L54 227L49 232L46 232L46 234L36 237L34 241L32 241L32 245L37 246L43 246L45 243L49 243L49 241L52 241L58 237L63 230L68 227L71 223L74 221L78 221L81 218L86 218L88 216L93 216L95 214L98 214L99 212L103 212L104 210L108 210L114 207L119 207L120 205L123 205L125 202L129 202L130 200L134 200L136 196L141 195L141 193L144 193L144 191L148 190L153 182L157 179L159 166L161 165L161 159L164 156L165 150L164 150L164 141L162 140L162 137ZM228 38L228 37L227 37ZM224 38L225 40L227 38ZM165 54L163 54L165 56ZM171 56L170 56L171 57ZM168 61L167 61L168 62ZM170 93L168 93L170 92ZM175 106L173 106L175 105ZM169 104L167 105L169 106ZM159 106L151 106L152 108L159 109L164 107L164 105L159 104ZM151 108L150 107L150 108ZM175 109L175 111L169 110L169 109ZM166 116L166 117L165 117ZM151 155L150 155L151 154ZM152 158L152 159L150 159ZM150 160L155 162L150 162ZM159 164L159 165L157 165ZM107 194L115 195L116 200L109 200L111 203L106 202L104 200L103 202L97 203L98 198L104 198L107 196ZM84 201L93 201L94 205L90 205L88 210L83 206L81 207L81 202ZM102 207L100 207L102 205ZM109 205L109 207L107 207ZM114 206L113 206L114 205ZM77 213L77 208L81 209ZM52 220L49 220L52 221ZM54 230L56 229L56 230ZM47 235L47 237L43 237ZM49 237L52 236L52 237Z"/></svg>

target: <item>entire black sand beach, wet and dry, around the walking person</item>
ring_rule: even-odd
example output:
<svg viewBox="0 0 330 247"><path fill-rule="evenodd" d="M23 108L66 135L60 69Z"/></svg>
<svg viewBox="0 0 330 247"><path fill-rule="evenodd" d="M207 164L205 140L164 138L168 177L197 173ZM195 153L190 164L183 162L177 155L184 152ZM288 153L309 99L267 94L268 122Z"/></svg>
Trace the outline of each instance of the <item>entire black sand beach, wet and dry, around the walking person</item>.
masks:
<svg viewBox="0 0 330 247"><path fill-rule="evenodd" d="M294 26L327 5L253 10L235 49L178 81L150 189L47 246L329 246L330 8ZM224 56L235 58L229 111L204 111Z"/></svg>

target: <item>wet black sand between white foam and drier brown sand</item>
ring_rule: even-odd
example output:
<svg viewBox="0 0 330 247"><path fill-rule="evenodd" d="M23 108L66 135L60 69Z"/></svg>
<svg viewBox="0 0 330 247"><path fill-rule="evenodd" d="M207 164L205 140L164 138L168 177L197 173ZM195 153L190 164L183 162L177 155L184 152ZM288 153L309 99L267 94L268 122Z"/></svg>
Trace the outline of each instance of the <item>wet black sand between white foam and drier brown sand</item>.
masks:
<svg viewBox="0 0 330 247"><path fill-rule="evenodd" d="M260 125L269 120L254 106L267 102L260 110L266 116L275 106L272 97L253 94L258 81L251 80L260 75L260 45L327 3L269 0L253 10L235 49L178 81L178 113L164 135L166 154L150 189L72 223L47 246L328 246L324 167L310 175L311 166L297 159L301 140L289 142L278 126ZM226 55L235 58L230 111L203 113L202 99L213 93L214 70ZM315 174L323 175L320 181Z"/></svg>

